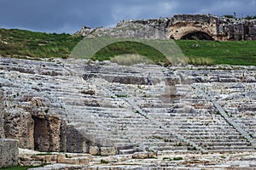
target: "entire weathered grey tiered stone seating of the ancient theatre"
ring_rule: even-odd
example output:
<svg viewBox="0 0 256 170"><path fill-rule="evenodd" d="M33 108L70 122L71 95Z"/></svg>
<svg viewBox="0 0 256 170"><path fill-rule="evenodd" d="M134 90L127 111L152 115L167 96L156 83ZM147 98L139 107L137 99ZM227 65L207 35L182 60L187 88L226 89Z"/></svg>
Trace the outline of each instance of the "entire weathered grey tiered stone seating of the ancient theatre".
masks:
<svg viewBox="0 0 256 170"><path fill-rule="evenodd" d="M255 151L255 71L216 69L1 58L8 132L33 148L46 120L47 150L96 155Z"/></svg>

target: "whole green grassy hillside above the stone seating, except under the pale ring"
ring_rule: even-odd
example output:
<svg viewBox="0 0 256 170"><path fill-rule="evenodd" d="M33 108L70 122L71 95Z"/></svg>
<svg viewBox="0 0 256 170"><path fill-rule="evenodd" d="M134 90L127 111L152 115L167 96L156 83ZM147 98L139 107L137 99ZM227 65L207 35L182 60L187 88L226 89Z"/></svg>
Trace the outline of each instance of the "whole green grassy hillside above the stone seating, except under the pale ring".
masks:
<svg viewBox="0 0 256 170"><path fill-rule="evenodd" d="M24 30L0 29L0 55L16 58L67 58L83 37ZM256 41L207 42L177 40L189 64L256 65ZM94 59L111 59L119 54L140 54L155 62L165 61L154 48L138 42L117 42L98 51Z"/></svg>

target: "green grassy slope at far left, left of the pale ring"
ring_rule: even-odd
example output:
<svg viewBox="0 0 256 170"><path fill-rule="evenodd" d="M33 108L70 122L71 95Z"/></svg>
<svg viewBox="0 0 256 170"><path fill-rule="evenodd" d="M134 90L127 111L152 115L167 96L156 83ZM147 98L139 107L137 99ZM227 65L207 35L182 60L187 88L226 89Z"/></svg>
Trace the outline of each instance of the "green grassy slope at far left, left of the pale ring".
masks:
<svg viewBox="0 0 256 170"><path fill-rule="evenodd" d="M0 54L15 58L67 58L82 37L0 29Z"/></svg>

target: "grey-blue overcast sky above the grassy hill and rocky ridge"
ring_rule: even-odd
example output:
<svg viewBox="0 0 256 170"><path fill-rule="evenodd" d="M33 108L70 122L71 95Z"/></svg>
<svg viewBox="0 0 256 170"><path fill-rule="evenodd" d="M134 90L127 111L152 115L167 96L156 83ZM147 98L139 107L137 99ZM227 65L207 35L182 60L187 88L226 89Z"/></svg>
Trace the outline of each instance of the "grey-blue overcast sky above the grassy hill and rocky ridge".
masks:
<svg viewBox="0 0 256 170"><path fill-rule="evenodd" d="M255 15L256 0L0 0L0 27L74 33L119 20L234 12Z"/></svg>

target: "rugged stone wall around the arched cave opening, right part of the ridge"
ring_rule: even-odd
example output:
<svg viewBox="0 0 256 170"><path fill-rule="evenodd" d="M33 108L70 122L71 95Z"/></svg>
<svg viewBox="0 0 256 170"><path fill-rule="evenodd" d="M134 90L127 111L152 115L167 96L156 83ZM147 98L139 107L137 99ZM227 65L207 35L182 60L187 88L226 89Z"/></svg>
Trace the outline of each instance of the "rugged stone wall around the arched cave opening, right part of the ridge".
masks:
<svg viewBox="0 0 256 170"><path fill-rule="evenodd" d="M182 39L197 31L220 41L256 40L256 20L228 19L210 14L177 14L172 17L168 36Z"/></svg>

